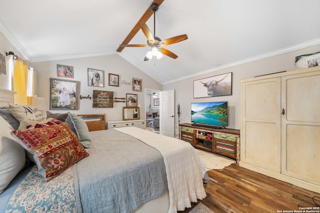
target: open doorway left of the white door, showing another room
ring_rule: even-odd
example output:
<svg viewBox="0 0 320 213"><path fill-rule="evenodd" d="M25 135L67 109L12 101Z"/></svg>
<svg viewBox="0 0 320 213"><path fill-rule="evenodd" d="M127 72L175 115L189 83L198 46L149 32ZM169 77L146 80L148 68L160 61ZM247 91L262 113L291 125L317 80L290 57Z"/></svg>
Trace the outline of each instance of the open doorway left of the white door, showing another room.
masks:
<svg viewBox="0 0 320 213"><path fill-rule="evenodd" d="M159 133L160 90L145 89L145 121L146 130Z"/></svg>

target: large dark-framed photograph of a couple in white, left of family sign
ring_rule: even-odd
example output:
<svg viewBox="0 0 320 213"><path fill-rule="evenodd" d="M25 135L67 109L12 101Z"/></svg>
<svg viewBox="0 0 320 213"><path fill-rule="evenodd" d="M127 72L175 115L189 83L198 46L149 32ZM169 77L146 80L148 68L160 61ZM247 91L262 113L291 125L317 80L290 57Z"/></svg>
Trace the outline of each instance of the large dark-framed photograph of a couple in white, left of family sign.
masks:
<svg viewBox="0 0 320 213"><path fill-rule="evenodd" d="M78 110L78 83L50 78L50 109Z"/></svg>

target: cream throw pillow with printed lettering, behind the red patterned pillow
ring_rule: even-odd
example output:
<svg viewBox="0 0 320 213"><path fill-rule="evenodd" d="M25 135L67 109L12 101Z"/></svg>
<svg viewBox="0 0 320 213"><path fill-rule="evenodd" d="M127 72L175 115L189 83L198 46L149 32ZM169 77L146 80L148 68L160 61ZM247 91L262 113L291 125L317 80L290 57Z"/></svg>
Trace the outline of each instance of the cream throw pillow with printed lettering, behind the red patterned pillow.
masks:
<svg viewBox="0 0 320 213"><path fill-rule="evenodd" d="M45 119L39 110L30 105L9 104L9 111L18 122L22 120L41 121Z"/></svg>

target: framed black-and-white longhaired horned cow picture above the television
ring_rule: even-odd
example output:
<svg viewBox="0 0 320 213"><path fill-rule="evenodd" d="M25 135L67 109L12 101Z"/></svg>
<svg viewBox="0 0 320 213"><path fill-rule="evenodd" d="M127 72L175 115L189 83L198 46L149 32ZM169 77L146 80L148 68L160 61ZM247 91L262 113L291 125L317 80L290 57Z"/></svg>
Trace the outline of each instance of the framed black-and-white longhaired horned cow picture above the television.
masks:
<svg viewBox="0 0 320 213"><path fill-rule="evenodd" d="M232 72L193 81L193 98L232 95Z"/></svg>

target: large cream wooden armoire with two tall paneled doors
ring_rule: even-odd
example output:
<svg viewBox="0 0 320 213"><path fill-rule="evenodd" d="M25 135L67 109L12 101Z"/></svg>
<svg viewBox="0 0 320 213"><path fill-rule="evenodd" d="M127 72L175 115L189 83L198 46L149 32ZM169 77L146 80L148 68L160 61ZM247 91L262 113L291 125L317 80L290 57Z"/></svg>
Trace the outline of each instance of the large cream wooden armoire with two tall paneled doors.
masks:
<svg viewBox="0 0 320 213"><path fill-rule="evenodd" d="M240 85L239 165L320 193L320 66Z"/></svg>

